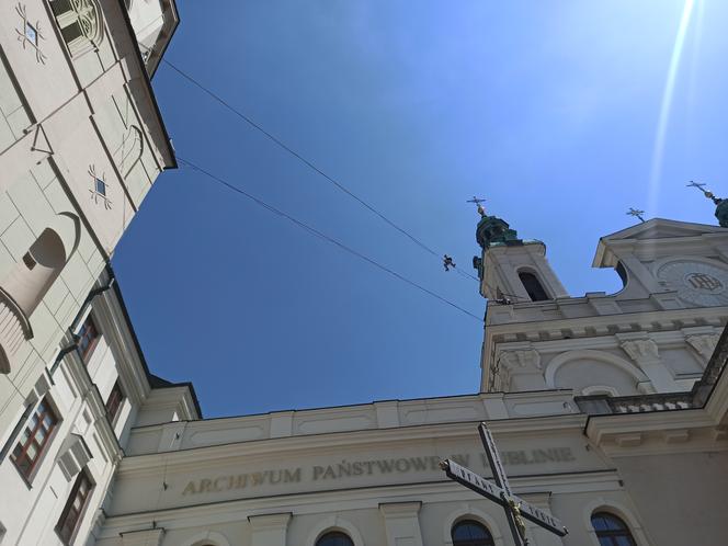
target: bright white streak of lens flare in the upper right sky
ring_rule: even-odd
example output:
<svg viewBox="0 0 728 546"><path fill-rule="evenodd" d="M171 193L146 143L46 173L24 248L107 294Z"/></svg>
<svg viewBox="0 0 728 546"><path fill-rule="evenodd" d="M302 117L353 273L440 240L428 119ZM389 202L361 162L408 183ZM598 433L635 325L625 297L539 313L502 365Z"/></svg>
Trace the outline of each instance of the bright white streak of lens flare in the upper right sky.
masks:
<svg viewBox="0 0 728 546"><path fill-rule="evenodd" d="M660 118L657 125L655 148L652 150L652 168L650 171L650 185L648 194L648 211L650 216L655 216L655 212L657 209L658 191L660 189L660 179L662 178L664 140L668 133L668 123L670 121L669 118L670 110L672 107L672 95L675 90L678 69L680 68L680 59L685 46L685 36L687 35L687 27L690 26L690 20L693 15L693 8L695 8L695 0L685 0L682 16L680 18L680 26L678 27L678 35L675 36L675 45L672 48L672 57L670 58L670 68L668 69L668 78L664 83L664 91L662 92Z"/></svg>

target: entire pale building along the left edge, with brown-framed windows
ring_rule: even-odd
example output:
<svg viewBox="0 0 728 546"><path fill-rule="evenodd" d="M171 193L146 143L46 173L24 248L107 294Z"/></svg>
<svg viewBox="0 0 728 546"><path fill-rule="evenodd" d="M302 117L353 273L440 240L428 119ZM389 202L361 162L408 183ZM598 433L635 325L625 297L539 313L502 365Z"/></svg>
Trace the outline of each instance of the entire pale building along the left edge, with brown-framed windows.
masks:
<svg viewBox="0 0 728 546"><path fill-rule="evenodd" d="M84 543L132 424L200 417L107 268L175 167L149 78L178 23L173 0L0 2L0 544Z"/></svg>

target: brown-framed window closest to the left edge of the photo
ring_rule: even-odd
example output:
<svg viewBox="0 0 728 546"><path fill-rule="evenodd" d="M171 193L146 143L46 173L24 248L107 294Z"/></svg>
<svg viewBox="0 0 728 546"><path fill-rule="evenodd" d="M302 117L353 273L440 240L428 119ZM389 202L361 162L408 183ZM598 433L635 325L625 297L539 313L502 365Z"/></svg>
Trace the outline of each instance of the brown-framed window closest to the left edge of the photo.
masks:
<svg viewBox="0 0 728 546"><path fill-rule="evenodd" d="M45 411L38 416L38 409L45 406ZM38 431L43 428L43 423L45 422L45 417L50 416L53 418L53 422L50 423L49 428L47 430L44 430L45 436L43 442L38 442L36 440ZM37 423L31 428L30 423L33 420L34 417L37 417ZM59 417L58 410L56 409L56 406L53 403L50 397L44 396L41 398L33 407L31 412L27 414L27 417L24 418L22 421L22 425L20 426L18 434L14 436L14 440L12 442L12 448L9 451L9 458L12 460L13 466L18 470L18 473L21 475L23 480L30 486L33 482L33 479L35 478L35 475L38 471L38 468L41 467L42 460L45 458L46 454L48 453L48 448L50 444L53 443L53 440L56 436L56 433L58 431L58 428L60 423L62 422L62 419ZM25 431L30 431L27 439L23 442L21 437L25 433ZM32 444L35 444L36 448L36 456L31 460L30 466L27 469L24 469L23 466L19 463L19 460L22 459L27 459L27 451ZM18 447L21 447L21 455L16 456L15 451Z"/></svg>

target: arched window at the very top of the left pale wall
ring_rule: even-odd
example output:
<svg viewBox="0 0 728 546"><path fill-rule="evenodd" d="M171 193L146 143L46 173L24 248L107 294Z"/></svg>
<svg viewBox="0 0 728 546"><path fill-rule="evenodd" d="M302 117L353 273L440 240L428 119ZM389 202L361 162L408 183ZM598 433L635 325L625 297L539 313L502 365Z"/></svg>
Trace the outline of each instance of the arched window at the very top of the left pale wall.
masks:
<svg viewBox="0 0 728 546"><path fill-rule="evenodd" d="M71 55L99 47L104 34L95 0L53 0L50 9Z"/></svg>

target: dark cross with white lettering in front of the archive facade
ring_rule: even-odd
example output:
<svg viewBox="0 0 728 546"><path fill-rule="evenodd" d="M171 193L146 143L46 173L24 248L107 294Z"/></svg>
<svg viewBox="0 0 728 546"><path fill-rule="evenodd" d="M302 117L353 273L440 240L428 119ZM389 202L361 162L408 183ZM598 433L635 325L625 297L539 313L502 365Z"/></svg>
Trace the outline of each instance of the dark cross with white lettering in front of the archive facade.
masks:
<svg viewBox="0 0 728 546"><path fill-rule="evenodd" d="M480 432L480 440L493 473L494 484L451 459L440 463L440 467L445 470L447 477L503 507L515 546L528 545L524 517L558 536L565 536L568 531L560 521L513 494L488 425L480 423L478 432Z"/></svg>

